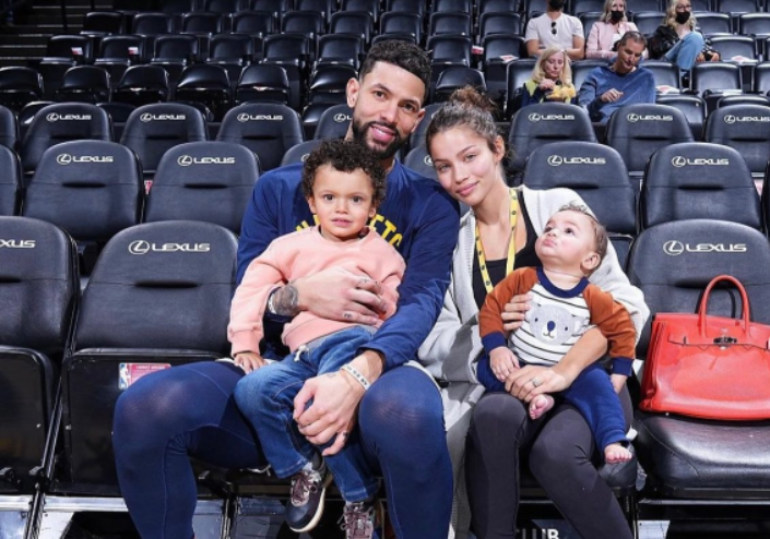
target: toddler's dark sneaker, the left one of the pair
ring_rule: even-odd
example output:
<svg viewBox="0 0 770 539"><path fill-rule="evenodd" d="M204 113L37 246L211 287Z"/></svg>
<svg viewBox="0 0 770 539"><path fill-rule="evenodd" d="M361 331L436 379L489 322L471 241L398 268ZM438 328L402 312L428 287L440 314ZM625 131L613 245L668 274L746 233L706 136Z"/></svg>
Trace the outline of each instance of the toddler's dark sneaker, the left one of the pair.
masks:
<svg viewBox="0 0 770 539"><path fill-rule="evenodd" d="M292 494L286 504L286 524L297 534L309 531L323 515L323 501L332 475L325 465L319 470L301 470L292 477Z"/></svg>

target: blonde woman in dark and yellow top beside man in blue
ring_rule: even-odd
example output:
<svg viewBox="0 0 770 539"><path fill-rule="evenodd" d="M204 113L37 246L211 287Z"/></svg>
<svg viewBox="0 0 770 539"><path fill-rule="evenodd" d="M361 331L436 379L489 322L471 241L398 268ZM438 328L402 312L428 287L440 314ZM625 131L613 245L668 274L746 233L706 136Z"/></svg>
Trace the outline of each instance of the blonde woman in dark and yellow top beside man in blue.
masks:
<svg viewBox="0 0 770 539"><path fill-rule="evenodd" d="M576 94L569 57L560 47L548 47L537 58L532 79L524 83L521 106L544 100L574 103Z"/></svg>

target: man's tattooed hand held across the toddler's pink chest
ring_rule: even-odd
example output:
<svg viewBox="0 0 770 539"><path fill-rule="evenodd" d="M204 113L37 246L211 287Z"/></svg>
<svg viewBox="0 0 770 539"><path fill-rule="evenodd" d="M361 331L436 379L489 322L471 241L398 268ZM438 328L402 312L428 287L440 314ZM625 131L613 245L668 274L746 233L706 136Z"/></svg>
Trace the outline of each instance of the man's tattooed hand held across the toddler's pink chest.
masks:
<svg viewBox="0 0 770 539"><path fill-rule="evenodd" d="M296 310L310 311L321 319L375 325L380 314L388 310L379 283L342 267L331 267L298 278L275 292L274 304L279 314L296 314L277 309L284 290L289 287L296 290Z"/></svg>

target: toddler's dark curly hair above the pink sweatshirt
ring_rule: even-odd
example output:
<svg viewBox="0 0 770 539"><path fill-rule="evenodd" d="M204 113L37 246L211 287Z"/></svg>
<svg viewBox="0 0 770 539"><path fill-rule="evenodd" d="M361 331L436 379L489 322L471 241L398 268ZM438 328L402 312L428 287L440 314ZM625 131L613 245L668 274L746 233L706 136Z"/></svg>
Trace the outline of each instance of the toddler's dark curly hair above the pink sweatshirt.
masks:
<svg viewBox="0 0 770 539"><path fill-rule="evenodd" d="M330 165L341 172L353 172L362 169L371 180L371 203L375 206L386 197L386 171L379 159L364 144L343 139L329 139L318 145L303 167L303 194L306 199L312 196L316 173L323 165Z"/></svg>

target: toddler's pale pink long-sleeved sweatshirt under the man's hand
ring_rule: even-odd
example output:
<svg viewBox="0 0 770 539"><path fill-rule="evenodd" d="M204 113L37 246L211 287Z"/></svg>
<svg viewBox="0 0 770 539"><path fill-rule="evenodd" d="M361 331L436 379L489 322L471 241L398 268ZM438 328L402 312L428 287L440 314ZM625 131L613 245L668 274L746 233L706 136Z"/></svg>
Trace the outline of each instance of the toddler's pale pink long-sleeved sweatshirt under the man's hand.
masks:
<svg viewBox="0 0 770 539"><path fill-rule="evenodd" d="M232 352L259 350L264 334L262 316L274 288L328 267L344 267L377 280L388 306L382 320L395 312L396 288L405 264L390 243L378 233L367 233L359 241L335 242L323 238L318 227L306 228L275 239L246 271L230 304L227 338L233 344ZM320 319L304 311L286 324L283 342L294 351L310 340L353 325L356 324Z"/></svg>

